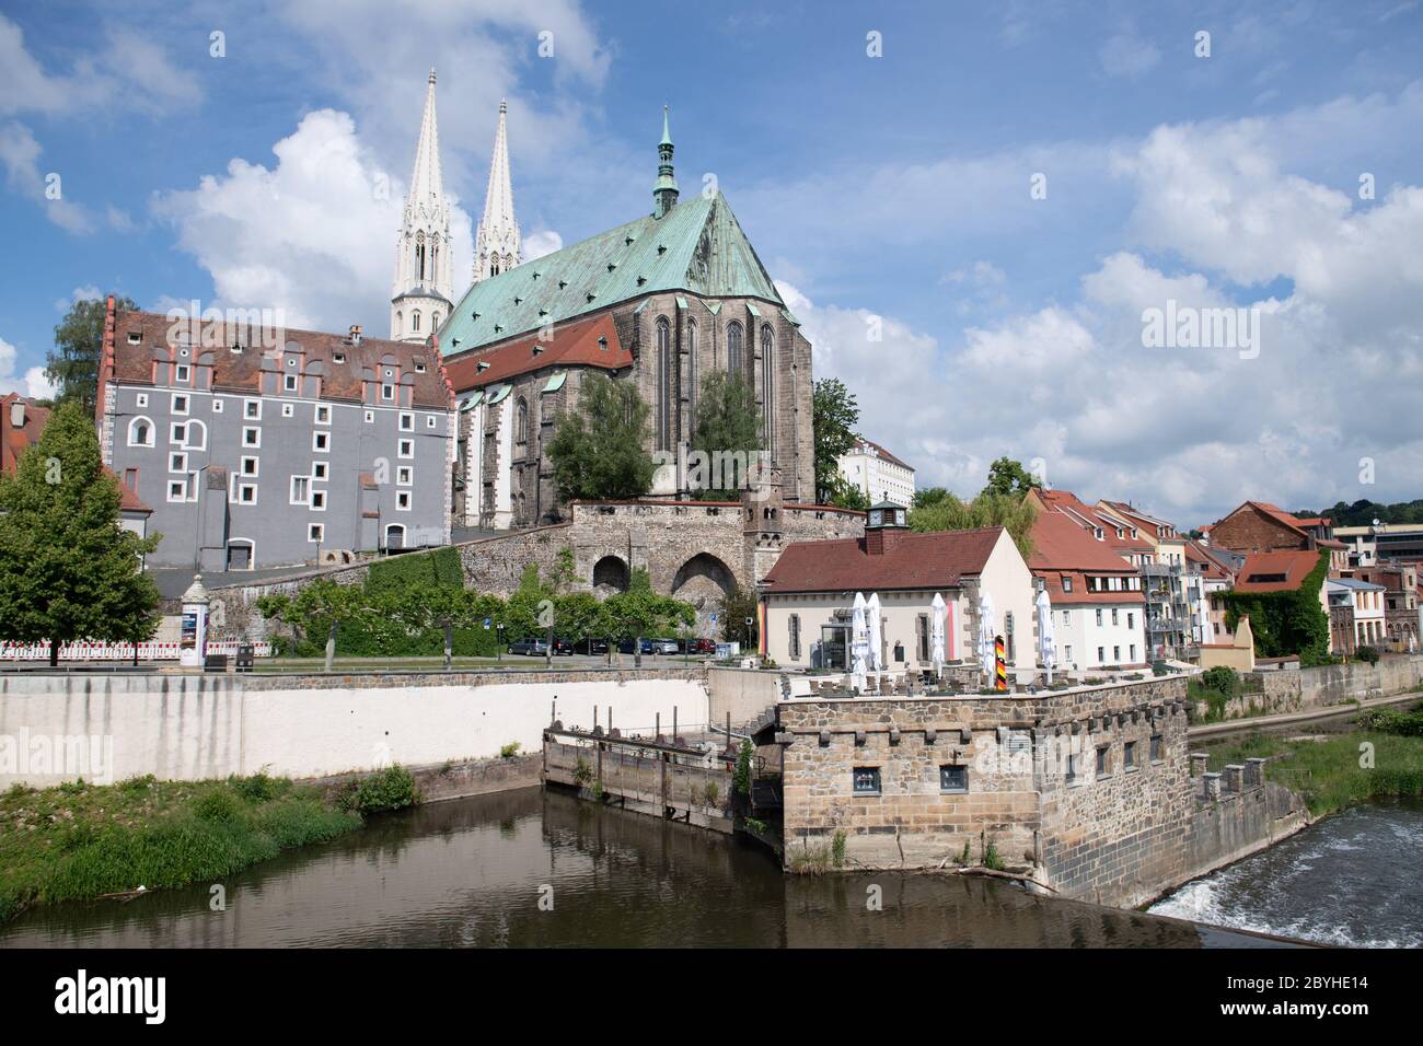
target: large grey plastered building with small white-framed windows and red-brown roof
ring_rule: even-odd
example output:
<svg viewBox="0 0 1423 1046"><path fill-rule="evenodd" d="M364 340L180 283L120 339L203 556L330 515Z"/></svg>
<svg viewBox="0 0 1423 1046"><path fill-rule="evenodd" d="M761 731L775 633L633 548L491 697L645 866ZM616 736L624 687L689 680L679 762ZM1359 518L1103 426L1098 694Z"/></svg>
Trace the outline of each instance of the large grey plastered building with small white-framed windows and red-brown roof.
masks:
<svg viewBox="0 0 1423 1046"><path fill-rule="evenodd" d="M256 569L448 544L454 424L430 346L360 327L194 323L110 299L100 444L154 508L154 566Z"/></svg>

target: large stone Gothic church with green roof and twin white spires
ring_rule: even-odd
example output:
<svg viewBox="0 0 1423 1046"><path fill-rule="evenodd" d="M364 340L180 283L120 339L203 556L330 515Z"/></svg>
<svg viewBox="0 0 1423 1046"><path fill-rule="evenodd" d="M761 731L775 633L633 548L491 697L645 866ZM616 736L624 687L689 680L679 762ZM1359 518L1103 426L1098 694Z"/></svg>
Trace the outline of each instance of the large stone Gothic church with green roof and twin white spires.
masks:
<svg viewBox="0 0 1423 1046"><path fill-rule="evenodd" d="M694 497L697 394L727 371L754 390L780 494L814 501L810 342L726 198L680 198L667 111L652 212L525 262L501 102L472 282L455 303L434 90L431 73L397 241L391 340L428 340L454 389L455 525L568 518L544 448L592 373L632 381L650 407L647 450L669 463L652 497Z"/></svg>

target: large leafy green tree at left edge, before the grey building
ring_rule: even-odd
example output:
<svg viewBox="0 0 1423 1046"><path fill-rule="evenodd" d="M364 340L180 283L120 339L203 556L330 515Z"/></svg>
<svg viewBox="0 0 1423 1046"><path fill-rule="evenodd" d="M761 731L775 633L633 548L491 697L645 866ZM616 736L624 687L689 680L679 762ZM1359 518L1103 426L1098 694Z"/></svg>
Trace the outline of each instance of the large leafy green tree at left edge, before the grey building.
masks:
<svg viewBox="0 0 1423 1046"><path fill-rule="evenodd" d="M158 629L158 589L141 571L158 535L118 525L118 481L104 470L78 403L50 414L14 475L0 475L0 639L141 643Z"/></svg>

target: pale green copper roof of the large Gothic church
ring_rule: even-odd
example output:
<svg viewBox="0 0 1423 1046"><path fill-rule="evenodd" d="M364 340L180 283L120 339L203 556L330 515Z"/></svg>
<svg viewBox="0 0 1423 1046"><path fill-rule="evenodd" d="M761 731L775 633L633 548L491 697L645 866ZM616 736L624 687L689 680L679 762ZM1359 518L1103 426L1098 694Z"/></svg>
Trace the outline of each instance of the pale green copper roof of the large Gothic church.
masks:
<svg viewBox="0 0 1423 1046"><path fill-rule="evenodd" d="M758 297L784 307L726 198L693 196L472 285L440 330L448 357L643 295Z"/></svg>

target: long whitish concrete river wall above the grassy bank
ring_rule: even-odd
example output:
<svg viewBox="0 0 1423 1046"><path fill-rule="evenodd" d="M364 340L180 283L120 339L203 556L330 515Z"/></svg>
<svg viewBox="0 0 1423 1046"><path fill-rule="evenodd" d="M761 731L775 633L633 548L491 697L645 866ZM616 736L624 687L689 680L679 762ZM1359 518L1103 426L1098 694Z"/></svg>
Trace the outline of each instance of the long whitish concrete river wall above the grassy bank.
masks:
<svg viewBox="0 0 1423 1046"><path fill-rule="evenodd" d="M707 722L699 669L645 672L471 672L286 677L0 676L0 787L84 776L201 780L266 770L323 777L391 761L443 764L542 743L552 703L568 726L593 710L623 731L652 733L656 716ZM7 743L9 739L9 743ZM61 739L98 739L81 766L30 759ZM77 743L71 746L78 754ZM74 759L70 760L73 763Z"/></svg>

